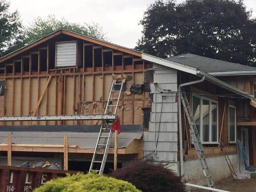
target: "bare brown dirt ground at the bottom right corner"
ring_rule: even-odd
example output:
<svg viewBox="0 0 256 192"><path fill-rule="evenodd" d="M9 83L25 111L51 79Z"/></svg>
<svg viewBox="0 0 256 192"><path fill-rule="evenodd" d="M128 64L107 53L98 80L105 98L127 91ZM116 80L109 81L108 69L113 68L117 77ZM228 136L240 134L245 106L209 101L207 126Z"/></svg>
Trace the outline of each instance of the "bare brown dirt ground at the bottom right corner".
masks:
<svg viewBox="0 0 256 192"><path fill-rule="evenodd" d="M219 180L215 183L216 189L228 192L256 192L256 178L248 180L233 180L232 177ZM206 190L192 190L191 192L210 192Z"/></svg>

